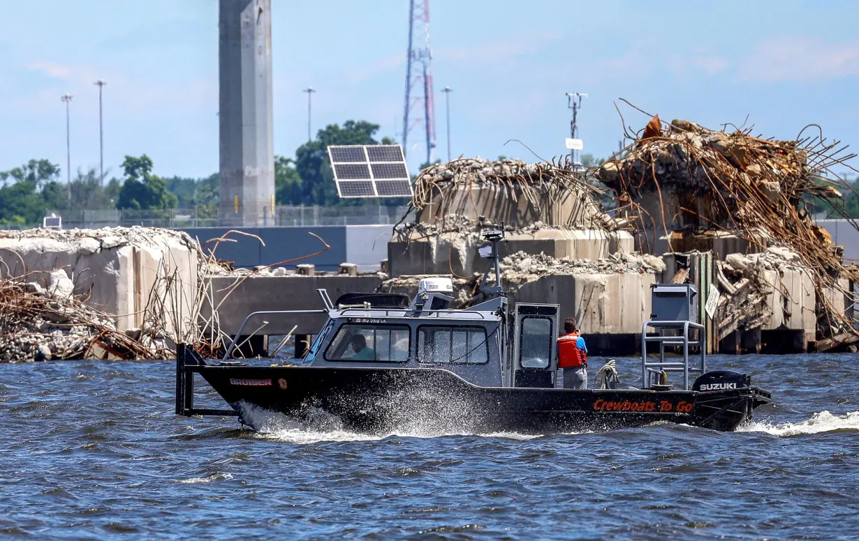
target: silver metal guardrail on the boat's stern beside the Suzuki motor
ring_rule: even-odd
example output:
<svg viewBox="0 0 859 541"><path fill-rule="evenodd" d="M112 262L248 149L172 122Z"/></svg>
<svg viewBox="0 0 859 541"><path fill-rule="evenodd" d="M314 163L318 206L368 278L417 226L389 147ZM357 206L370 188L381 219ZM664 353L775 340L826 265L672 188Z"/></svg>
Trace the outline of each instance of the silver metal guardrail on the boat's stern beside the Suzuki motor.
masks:
<svg viewBox="0 0 859 541"><path fill-rule="evenodd" d="M679 336L648 336L649 327L659 329L681 329ZM698 329L698 340L689 340L689 329ZM647 345L649 342L659 344L659 361L649 362L647 360ZM680 361L667 361L665 359L665 346L683 346L683 357ZM689 346L700 346L700 366L689 366ZM707 348L704 346L704 325L694 322L644 322L642 327L642 387L649 388L650 376L665 372L683 372L683 390L689 390L689 372L707 371Z"/></svg>

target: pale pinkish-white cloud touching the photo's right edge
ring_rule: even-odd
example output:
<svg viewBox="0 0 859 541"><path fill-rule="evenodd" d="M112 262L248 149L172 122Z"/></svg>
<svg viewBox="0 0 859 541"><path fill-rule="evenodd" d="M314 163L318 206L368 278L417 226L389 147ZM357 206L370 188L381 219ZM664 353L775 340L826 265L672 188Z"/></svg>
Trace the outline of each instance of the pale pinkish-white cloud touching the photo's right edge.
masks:
<svg viewBox="0 0 859 541"><path fill-rule="evenodd" d="M758 45L740 61L740 81L827 81L859 75L859 40L783 37Z"/></svg>

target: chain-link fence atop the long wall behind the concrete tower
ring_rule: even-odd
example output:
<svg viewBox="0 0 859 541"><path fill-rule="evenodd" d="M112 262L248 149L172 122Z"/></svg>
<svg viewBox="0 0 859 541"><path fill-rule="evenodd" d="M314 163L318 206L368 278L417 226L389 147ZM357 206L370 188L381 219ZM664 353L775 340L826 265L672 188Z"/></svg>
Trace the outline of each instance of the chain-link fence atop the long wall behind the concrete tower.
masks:
<svg viewBox="0 0 859 541"><path fill-rule="evenodd" d="M408 207L386 207L371 205L366 207L318 207L304 205L282 205L275 208L275 223L269 225L393 225L408 210ZM63 229L79 227L92 229L116 225L144 225L149 227L216 227L222 224L218 219L217 207L171 208L169 210L132 210L132 209L71 209L48 210L63 219ZM41 224L17 227L0 226L6 229L27 229Z"/></svg>

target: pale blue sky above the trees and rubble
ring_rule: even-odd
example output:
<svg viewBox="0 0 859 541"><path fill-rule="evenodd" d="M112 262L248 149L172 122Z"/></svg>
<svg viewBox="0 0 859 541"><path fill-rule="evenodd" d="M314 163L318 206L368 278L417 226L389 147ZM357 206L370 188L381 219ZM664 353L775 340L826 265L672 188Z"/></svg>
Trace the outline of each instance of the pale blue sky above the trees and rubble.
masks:
<svg viewBox="0 0 859 541"><path fill-rule="evenodd" d="M585 153L618 147L612 102L663 119L793 138L807 123L859 148L859 3L430 0L438 151L533 159L564 153L566 92L588 93ZM314 130L363 119L401 131L408 2L272 0L275 152ZM105 166L148 153L162 176L217 170L216 0L0 0L0 170L27 159L65 165L72 93L72 169L99 160L98 89L105 87ZM647 118L622 108L640 128ZM411 135L410 135L411 137ZM412 169L422 153L411 153Z"/></svg>

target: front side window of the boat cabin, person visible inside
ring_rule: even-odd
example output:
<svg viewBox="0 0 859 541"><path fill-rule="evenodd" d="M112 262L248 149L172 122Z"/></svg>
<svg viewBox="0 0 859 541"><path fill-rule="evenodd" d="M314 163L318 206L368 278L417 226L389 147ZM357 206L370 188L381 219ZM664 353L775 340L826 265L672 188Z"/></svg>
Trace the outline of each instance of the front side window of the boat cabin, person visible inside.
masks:
<svg viewBox="0 0 859 541"><path fill-rule="evenodd" d="M409 359L409 327L346 323L325 352L326 361L405 363Z"/></svg>

